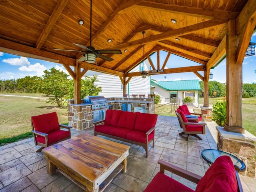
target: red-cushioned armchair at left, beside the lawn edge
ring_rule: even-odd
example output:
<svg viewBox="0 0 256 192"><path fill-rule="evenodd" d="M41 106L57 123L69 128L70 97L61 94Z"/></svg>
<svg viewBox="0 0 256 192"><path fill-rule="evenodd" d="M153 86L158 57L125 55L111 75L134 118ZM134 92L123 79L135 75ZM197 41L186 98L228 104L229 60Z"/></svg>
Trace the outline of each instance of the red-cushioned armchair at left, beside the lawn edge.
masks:
<svg viewBox="0 0 256 192"><path fill-rule="evenodd" d="M35 145L42 146L36 152L50 145L70 138L71 126L59 124L56 112L31 117L32 133ZM60 130L66 128L66 130Z"/></svg>

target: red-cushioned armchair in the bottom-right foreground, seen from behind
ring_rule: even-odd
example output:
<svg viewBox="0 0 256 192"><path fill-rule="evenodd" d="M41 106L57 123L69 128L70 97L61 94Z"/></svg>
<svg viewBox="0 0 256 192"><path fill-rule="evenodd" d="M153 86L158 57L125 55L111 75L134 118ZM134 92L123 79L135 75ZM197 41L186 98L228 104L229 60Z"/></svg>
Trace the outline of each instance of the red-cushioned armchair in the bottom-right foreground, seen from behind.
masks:
<svg viewBox="0 0 256 192"><path fill-rule="evenodd" d="M164 174L168 170L178 176L197 184L196 192L242 192L242 185L237 166L234 166L229 156L218 157L203 177L158 160L160 172L154 176L144 192L194 192L184 184Z"/></svg>

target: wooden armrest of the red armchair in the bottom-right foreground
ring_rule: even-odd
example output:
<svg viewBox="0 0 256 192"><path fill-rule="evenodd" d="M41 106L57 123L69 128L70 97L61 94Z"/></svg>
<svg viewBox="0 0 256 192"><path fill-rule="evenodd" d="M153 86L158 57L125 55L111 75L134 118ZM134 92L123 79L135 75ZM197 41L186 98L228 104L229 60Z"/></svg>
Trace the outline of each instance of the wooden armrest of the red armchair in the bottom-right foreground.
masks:
<svg viewBox="0 0 256 192"><path fill-rule="evenodd" d="M160 164L160 172L164 173L164 170L170 171L178 176L181 176L189 181L192 181L194 183L198 183L199 180L202 178L202 176L199 176L197 174L194 174L192 172L189 172L187 170L184 170L180 167L177 167L175 165L172 165L170 163L167 163L163 160L158 160L158 164Z"/></svg>

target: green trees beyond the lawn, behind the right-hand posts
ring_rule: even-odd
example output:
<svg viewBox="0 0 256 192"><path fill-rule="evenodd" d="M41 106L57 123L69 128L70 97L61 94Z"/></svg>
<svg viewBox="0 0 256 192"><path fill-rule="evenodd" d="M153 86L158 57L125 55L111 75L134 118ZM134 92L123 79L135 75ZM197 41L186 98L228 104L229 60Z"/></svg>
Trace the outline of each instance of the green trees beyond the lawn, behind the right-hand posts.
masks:
<svg viewBox="0 0 256 192"><path fill-rule="evenodd" d="M201 90L198 91L200 97L204 97L204 82L199 81ZM209 81L209 97L224 97L226 96L226 83L217 81ZM243 98L256 97L256 83L243 83L242 90Z"/></svg>

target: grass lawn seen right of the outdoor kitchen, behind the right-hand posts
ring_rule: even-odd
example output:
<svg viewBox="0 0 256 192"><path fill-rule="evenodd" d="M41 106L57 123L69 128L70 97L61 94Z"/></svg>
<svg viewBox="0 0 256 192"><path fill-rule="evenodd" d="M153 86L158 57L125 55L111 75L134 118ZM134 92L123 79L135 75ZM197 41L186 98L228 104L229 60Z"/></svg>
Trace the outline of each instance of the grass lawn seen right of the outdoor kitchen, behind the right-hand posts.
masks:
<svg viewBox="0 0 256 192"><path fill-rule="evenodd" d="M222 98L209 98L209 104L213 105L216 101L221 101ZM199 104L203 104L204 99L199 98ZM177 107L176 107L177 108ZM158 104L155 108L155 113L165 116L176 116L174 112L175 106ZM256 98L242 99L242 118L243 127L245 130L256 136Z"/></svg>

